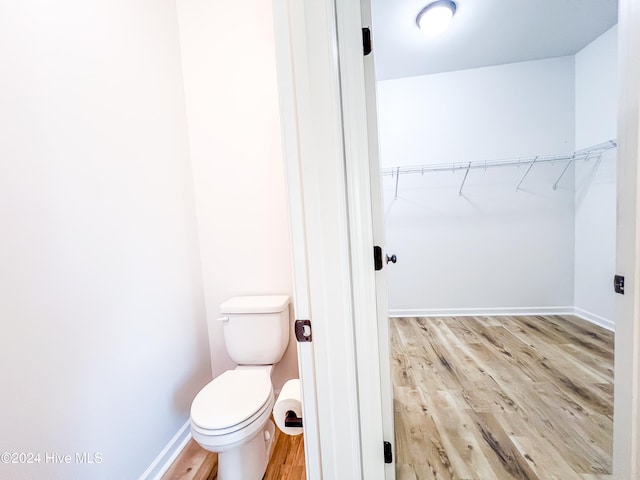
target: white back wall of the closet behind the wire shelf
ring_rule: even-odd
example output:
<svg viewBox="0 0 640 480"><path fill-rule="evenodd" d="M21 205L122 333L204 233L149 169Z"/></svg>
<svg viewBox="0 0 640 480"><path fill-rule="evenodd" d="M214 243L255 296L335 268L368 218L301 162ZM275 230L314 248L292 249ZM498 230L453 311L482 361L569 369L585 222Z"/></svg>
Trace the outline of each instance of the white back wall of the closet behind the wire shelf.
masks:
<svg viewBox="0 0 640 480"><path fill-rule="evenodd" d="M562 57L378 83L382 166L572 152ZM573 175L564 164L385 177L391 313L573 305Z"/></svg>

